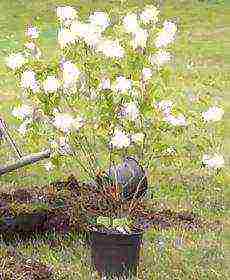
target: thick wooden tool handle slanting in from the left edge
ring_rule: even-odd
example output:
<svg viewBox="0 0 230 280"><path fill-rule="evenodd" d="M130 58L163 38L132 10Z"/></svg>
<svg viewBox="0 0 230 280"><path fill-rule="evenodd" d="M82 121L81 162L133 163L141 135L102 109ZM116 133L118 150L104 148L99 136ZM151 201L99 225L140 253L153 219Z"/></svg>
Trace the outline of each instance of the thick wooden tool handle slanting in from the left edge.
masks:
<svg viewBox="0 0 230 280"><path fill-rule="evenodd" d="M21 159L19 159L17 162L0 167L0 176L3 174L6 174L8 172L11 172L13 170L19 169L23 166L29 165L29 164L33 164L37 161L43 160L45 158L49 158L51 155L50 150L45 150L43 152L40 153L36 153L36 154L32 154L29 156L25 156L22 157Z"/></svg>

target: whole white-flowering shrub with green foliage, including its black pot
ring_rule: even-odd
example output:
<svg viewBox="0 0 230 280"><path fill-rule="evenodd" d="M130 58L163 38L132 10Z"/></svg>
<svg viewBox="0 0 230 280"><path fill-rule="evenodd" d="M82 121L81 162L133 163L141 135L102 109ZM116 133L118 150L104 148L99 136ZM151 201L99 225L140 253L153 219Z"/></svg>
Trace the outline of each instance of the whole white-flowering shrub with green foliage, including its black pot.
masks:
<svg viewBox="0 0 230 280"><path fill-rule="evenodd" d="M202 148L195 135L202 129L214 135L212 124L223 116L211 99L197 105L199 96L190 96L190 103L187 97L175 97L169 49L178 27L173 20L162 22L159 14L155 6L146 6L113 20L96 11L83 21L74 8L58 7L57 56L45 60L38 28L28 26L25 48L7 59L22 89L22 104L12 112L22 120L19 133L50 147L49 172L71 158L88 182L80 194L81 206L98 223L88 226L101 273L122 273L123 264L137 261L142 233L126 232L124 224L131 228L131 213L159 161L196 165ZM202 136L208 143L207 134ZM218 145L213 147L217 150L205 152L201 161L219 169L224 159ZM117 221L122 229L114 228ZM125 254L118 250L124 244L135 251L125 260L117 258ZM99 247L106 252L103 256Z"/></svg>

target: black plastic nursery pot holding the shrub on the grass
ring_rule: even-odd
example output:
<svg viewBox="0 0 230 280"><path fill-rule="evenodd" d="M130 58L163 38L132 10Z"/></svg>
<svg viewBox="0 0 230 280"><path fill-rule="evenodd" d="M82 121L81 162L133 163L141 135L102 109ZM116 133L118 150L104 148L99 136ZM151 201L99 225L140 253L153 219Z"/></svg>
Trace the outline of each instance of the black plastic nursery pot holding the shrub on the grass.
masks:
<svg viewBox="0 0 230 280"><path fill-rule="evenodd" d="M142 233L93 231L90 235L92 264L101 276L118 279L136 276L141 243Z"/></svg>

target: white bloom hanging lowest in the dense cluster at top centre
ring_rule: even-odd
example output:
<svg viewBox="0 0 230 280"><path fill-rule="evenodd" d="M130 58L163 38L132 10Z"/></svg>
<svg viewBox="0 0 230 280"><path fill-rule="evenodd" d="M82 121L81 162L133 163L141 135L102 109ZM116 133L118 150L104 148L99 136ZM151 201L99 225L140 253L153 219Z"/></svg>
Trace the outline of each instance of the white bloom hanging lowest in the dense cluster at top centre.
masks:
<svg viewBox="0 0 230 280"><path fill-rule="evenodd" d="M118 41L107 39L99 42L97 51L102 52L106 57L109 58L122 58L125 54L124 49Z"/></svg>

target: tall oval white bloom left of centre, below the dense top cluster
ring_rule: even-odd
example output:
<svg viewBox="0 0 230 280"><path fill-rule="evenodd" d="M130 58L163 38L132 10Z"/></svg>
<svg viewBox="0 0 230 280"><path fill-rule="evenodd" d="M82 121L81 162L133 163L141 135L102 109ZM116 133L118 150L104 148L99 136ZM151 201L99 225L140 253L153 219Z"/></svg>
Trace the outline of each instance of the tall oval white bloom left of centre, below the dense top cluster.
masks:
<svg viewBox="0 0 230 280"><path fill-rule="evenodd" d="M77 81L80 70L70 61L62 63L64 87L69 88Z"/></svg>

